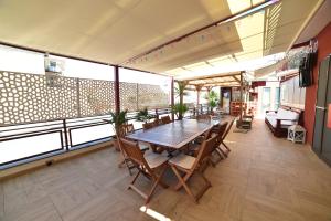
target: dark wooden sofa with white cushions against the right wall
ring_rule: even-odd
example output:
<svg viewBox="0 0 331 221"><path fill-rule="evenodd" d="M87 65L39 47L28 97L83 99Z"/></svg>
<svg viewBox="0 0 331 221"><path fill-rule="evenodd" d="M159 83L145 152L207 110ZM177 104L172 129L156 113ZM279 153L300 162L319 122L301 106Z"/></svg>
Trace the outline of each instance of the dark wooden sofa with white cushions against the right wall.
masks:
<svg viewBox="0 0 331 221"><path fill-rule="evenodd" d="M287 137L288 127L302 126L302 109L280 106L277 110L267 110L265 122L275 137Z"/></svg>

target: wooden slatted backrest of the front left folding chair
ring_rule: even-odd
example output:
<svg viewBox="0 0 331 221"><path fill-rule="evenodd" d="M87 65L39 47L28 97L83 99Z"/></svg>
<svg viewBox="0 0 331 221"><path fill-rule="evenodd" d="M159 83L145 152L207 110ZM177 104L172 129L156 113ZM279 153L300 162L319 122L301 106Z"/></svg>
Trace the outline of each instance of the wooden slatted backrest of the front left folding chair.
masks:
<svg viewBox="0 0 331 221"><path fill-rule="evenodd" d="M119 143L121 145L122 150L125 151L126 156L130 158L134 162L148 167L147 161L143 158L143 154L140 150L137 141L130 141L125 138L119 138Z"/></svg>

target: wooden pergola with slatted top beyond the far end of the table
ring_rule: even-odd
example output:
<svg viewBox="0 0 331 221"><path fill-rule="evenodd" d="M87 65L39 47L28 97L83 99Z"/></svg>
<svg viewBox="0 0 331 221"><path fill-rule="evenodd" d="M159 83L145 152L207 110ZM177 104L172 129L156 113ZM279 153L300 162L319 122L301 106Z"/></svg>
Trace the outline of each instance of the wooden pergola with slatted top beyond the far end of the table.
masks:
<svg viewBox="0 0 331 221"><path fill-rule="evenodd" d="M183 80L185 82L188 91L196 91L196 103L200 104L200 92L210 92L215 86L221 87L241 87L241 116L243 118L243 91L244 91L244 72L232 72L227 74L214 74L209 76L200 76ZM178 81L180 82L180 81Z"/></svg>

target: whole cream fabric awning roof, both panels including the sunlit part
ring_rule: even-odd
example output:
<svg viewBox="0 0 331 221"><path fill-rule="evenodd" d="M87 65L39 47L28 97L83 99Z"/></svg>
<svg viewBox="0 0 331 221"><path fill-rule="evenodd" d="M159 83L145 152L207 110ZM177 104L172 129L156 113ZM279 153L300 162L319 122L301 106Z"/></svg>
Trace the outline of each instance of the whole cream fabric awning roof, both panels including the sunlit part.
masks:
<svg viewBox="0 0 331 221"><path fill-rule="evenodd" d="M282 0L263 12L128 60L260 1L1 0L0 41L177 78L204 75L285 51L320 0Z"/></svg>

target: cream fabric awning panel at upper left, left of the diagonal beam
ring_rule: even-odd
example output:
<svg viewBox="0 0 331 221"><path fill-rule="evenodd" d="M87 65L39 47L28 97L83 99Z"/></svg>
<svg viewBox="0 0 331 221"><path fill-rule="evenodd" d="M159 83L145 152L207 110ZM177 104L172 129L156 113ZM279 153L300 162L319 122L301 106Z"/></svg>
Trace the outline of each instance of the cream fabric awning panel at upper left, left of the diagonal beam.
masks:
<svg viewBox="0 0 331 221"><path fill-rule="evenodd" d="M228 15L226 0L1 0L0 40L119 64Z"/></svg>

